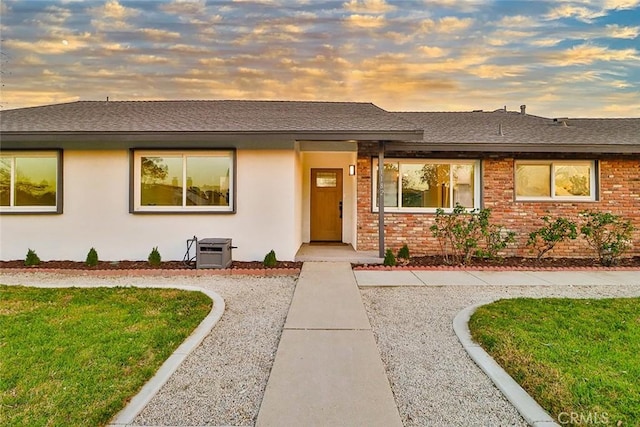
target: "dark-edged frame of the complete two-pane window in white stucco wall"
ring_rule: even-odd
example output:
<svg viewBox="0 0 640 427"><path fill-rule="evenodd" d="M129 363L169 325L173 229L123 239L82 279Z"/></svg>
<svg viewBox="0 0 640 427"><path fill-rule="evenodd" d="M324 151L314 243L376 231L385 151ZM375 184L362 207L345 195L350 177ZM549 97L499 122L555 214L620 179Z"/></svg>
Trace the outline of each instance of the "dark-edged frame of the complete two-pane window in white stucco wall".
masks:
<svg viewBox="0 0 640 427"><path fill-rule="evenodd" d="M188 157L223 157L227 154L229 162L229 206L189 206L184 204L186 186L186 163ZM130 150L129 173L129 212L132 214L235 214L236 213L236 163L237 153L234 148L214 149L166 149L166 148L142 148ZM182 157L183 164L183 205L181 206L143 206L141 204L141 170L143 157Z"/></svg>

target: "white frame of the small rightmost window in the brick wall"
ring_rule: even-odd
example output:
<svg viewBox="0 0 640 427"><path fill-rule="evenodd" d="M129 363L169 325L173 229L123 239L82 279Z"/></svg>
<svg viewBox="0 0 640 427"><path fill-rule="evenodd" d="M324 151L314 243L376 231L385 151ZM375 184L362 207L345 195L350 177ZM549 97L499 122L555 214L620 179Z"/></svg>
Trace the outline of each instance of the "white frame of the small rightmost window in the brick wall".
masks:
<svg viewBox="0 0 640 427"><path fill-rule="evenodd" d="M548 165L550 167L549 196L519 196L518 195L518 166L519 165ZM589 196L556 196L555 180L556 167L565 165L589 166ZM597 160L514 160L513 163L513 197L516 202L597 202L599 199L599 167Z"/></svg>

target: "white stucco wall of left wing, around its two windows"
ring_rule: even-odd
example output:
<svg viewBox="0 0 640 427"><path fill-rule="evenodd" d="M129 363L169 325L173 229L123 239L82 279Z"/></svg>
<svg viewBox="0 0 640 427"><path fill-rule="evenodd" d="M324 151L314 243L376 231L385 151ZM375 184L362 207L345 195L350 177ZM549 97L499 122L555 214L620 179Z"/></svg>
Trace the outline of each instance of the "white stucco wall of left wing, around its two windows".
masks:
<svg viewBox="0 0 640 427"><path fill-rule="evenodd" d="M271 249L293 260L301 228L298 157L238 150L235 214L130 214L128 151L65 151L63 214L0 216L0 259L24 259L31 248L42 260L84 261L95 247L102 260L146 260L158 246L164 260L181 260L196 235L232 238L235 260L262 260Z"/></svg>

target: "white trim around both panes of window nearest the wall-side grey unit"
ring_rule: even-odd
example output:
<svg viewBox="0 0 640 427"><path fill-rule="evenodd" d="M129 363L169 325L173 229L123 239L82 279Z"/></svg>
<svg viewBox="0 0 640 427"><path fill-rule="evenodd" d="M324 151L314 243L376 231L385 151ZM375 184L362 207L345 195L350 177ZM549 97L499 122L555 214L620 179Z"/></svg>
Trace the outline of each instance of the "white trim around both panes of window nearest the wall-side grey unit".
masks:
<svg viewBox="0 0 640 427"><path fill-rule="evenodd" d="M234 150L134 150L133 155L133 206L134 212L184 213L184 212L234 212L235 192L235 151ZM182 206L142 206L140 204L140 176L142 157L173 157L182 159ZM229 205L228 206L187 206L187 158L228 157L229 159Z"/></svg>

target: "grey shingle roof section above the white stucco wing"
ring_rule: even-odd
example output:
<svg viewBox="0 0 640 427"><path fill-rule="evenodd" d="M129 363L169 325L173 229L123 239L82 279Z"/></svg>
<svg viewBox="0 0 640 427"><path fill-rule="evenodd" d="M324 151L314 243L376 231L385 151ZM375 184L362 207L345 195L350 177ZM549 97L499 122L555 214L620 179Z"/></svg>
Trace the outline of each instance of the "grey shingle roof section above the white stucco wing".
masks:
<svg viewBox="0 0 640 427"><path fill-rule="evenodd" d="M413 131L402 117L359 102L79 101L0 112L3 132Z"/></svg>

